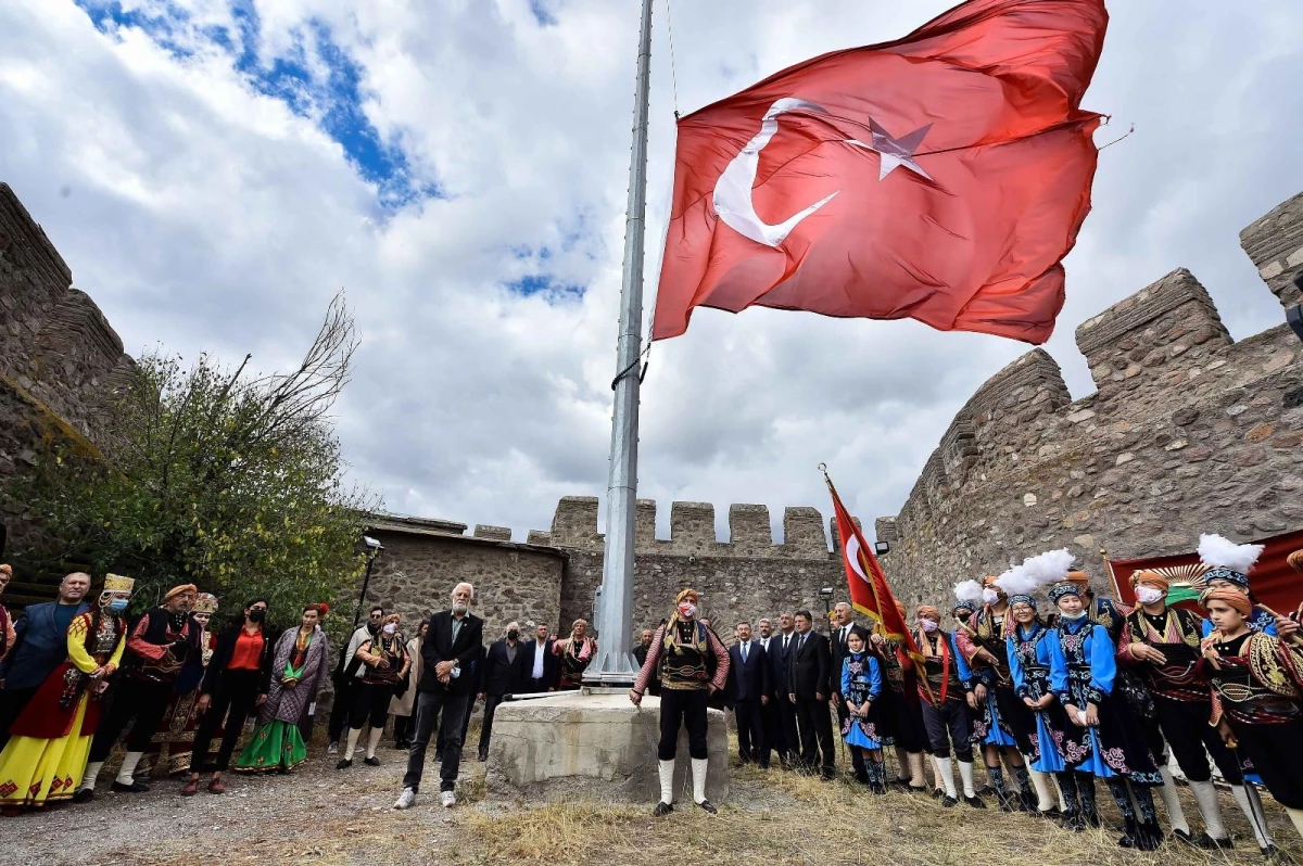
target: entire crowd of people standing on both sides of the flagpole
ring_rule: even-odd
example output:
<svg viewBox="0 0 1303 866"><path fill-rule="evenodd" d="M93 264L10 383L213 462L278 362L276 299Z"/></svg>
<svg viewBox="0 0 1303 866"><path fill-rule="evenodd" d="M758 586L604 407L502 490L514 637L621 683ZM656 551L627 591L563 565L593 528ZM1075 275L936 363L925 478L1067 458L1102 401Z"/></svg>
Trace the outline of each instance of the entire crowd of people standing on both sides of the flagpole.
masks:
<svg viewBox="0 0 1303 866"><path fill-rule="evenodd" d="M945 807L993 801L1080 831L1101 826L1101 781L1124 824L1119 844L1144 850L1167 839L1157 801L1173 839L1233 845L1216 767L1261 852L1278 857L1259 788L1303 835L1303 606L1282 616L1257 603L1248 574L1260 551L1204 538L1201 612L1169 606L1170 576L1156 570L1131 576L1135 607L1097 596L1071 555L1053 551L956 585L947 609L921 606L907 617L898 606L908 633L876 616L857 622L842 602L826 634L797 609L760 619L754 633L737 622L726 645L685 589L631 647L640 665L631 701L659 697L655 814L674 810L680 728L693 802L715 811L708 714L721 707L735 716L743 763L833 780L839 733L848 774L873 794L898 787ZM1290 563L1303 572L1303 551ZM0 566L0 591L9 577ZM542 624L526 637L509 622L486 646L470 613L474 589L459 583L410 639L399 613L373 608L328 675L326 606L306 606L298 626L274 638L265 599L218 630L219 600L193 585L129 620L132 590L130 578L108 574L91 595L91 578L73 573L57 600L17 621L0 606L0 807L93 800L119 744L117 793L149 790L151 774L184 774L184 796L210 774L207 790L223 793L232 759L237 771L288 772L306 758L327 676L336 768L352 768L360 747L364 763L378 764L392 721L394 745L407 751L394 807L414 805L431 738L439 800L452 806L474 705L483 705L486 761L504 699L579 688L598 655L584 620L564 638ZM255 728L237 755L250 716ZM1203 818L1199 833L1175 794L1173 758Z"/></svg>

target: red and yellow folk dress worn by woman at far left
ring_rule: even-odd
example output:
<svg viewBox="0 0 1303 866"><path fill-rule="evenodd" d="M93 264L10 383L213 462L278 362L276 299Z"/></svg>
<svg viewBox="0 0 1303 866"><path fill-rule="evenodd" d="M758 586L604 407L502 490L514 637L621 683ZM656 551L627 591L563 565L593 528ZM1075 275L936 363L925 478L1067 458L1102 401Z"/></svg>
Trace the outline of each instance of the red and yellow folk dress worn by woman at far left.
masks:
<svg viewBox="0 0 1303 866"><path fill-rule="evenodd" d="M46 677L9 728L0 751L0 806L43 806L69 800L81 783L103 708L103 689L90 678L117 668L126 620L100 608L68 624L68 660Z"/></svg>

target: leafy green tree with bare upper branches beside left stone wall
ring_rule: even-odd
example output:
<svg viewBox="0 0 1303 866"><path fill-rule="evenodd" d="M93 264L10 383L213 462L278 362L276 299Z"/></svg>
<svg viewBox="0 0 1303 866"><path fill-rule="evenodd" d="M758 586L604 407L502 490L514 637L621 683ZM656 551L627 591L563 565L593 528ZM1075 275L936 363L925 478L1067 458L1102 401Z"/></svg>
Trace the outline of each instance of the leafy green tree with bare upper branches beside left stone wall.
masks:
<svg viewBox="0 0 1303 866"><path fill-rule="evenodd" d="M208 356L162 352L112 401L102 460L51 445L12 495L46 520L44 561L134 577L152 604L176 583L218 595L222 613L257 596L289 625L302 604L356 586L354 551L379 507L347 486L328 412L358 340L343 294L297 370L261 378Z"/></svg>

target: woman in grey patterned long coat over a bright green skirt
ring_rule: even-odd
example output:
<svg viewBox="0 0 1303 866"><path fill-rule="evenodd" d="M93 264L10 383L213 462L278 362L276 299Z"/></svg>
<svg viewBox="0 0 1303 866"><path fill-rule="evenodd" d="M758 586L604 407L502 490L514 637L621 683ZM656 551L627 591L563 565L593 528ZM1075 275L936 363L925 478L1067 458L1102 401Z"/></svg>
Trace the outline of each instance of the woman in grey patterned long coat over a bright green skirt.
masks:
<svg viewBox="0 0 1303 866"><path fill-rule="evenodd" d="M267 699L253 738L236 759L236 772L288 772L308 759L298 720L326 676L330 654L330 642L319 625L321 613L321 606L309 604L298 628L276 641Z"/></svg>

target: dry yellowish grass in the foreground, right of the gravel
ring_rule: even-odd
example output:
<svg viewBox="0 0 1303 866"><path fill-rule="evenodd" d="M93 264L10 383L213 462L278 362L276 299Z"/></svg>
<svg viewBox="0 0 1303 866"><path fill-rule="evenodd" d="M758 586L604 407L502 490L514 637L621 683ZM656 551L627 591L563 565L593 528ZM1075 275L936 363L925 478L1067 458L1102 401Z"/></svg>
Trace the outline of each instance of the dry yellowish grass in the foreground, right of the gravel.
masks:
<svg viewBox="0 0 1303 866"><path fill-rule="evenodd" d="M1101 806L1108 794L1102 785ZM1188 792L1183 792L1188 794ZM1188 796L1187 817L1197 822ZM1272 830L1303 862L1303 845L1278 807ZM1248 827L1226 797L1224 813L1231 832L1243 837L1229 854L1195 850L1171 843L1152 854L1118 848L1117 833L1098 830L1071 833L1020 814L968 806L943 809L919 794L876 797L848 780L823 783L780 771L734 767L730 802L711 817L691 806L653 819L645 807L551 803L504 815L472 814L472 862L580 863L599 854L610 863L717 863L767 861L780 863L928 863L972 866L997 863L1091 863L1123 866L1171 862L1184 866L1261 863ZM1115 818L1105 809L1105 819ZM481 859L482 858L482 859Z"/></svg>

